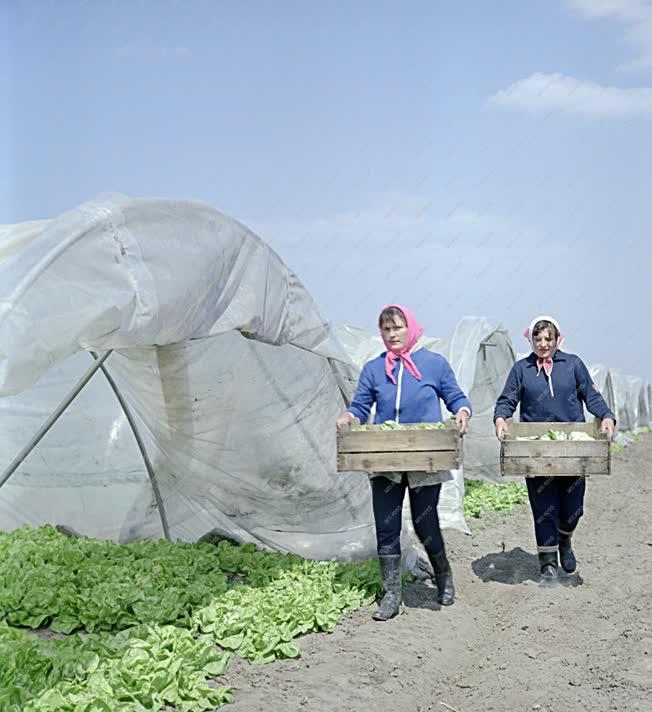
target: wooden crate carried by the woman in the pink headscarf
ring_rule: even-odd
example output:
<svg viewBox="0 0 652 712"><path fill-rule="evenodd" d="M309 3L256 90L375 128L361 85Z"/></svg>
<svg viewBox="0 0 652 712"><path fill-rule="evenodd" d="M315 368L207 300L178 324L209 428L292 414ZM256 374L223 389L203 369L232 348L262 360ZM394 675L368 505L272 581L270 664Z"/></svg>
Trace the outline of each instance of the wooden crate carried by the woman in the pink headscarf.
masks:
<svg viewBox="0 0 652 712"><path fill-rule="evenodd" d="M437 472L462 465L462 438L447 421L437 430L354 430L337 432L338 472Z"/></svg>

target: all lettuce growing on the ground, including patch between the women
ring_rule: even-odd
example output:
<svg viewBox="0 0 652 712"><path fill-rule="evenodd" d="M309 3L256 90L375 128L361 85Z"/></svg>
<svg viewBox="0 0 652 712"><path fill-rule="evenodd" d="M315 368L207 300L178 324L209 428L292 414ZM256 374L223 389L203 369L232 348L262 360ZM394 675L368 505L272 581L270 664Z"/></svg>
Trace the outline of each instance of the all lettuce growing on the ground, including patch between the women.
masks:
<svg viewBox="0 0 652 712"><path fill-rule="evenodd" d="M467 483L465 513L509 509L524 489ZM375 560L0 532L0 709L215 709L233 699L231 655L297 657L299 636L331 631L379 593Z"/></svg>

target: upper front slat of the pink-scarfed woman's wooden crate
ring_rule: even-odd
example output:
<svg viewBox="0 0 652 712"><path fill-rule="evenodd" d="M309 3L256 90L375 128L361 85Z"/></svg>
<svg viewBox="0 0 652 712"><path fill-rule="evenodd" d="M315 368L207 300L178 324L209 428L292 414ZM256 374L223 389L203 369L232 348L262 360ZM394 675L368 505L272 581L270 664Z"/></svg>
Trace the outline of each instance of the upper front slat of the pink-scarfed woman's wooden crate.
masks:
<svg viewBox="0 0 652 712"><path fill-rule="evenodd" d="M401 452L455 449L456 433L440 430L345 430L337 434L339 452Z"/></svg>

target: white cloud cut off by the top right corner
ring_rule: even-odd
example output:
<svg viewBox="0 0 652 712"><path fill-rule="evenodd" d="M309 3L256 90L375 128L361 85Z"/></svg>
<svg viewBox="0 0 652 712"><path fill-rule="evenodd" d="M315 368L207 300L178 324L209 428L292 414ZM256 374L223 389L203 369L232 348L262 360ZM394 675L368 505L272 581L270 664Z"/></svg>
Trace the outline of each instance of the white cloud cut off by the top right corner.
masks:
<svg viewBox="0 0 652 712"><path fill-rule="evenodd" d="M625 27L625 39L638 57L620 65L623 71L652 69L651 0L566 0L568 5L590 20L613 19Z"/></svg>

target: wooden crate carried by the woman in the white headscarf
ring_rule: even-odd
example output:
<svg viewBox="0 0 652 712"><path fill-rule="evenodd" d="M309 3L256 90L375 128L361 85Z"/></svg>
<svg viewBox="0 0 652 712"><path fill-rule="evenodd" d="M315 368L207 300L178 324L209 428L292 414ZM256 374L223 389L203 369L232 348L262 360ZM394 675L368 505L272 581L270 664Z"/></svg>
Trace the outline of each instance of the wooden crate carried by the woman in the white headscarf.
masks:
<svg viewBox="0 0 652 712"><path fill-rule="evenodd" d="M500 474L522 477L578 477L611 474L611 443L593 423L514 423L507 421L509 434L500 444ZM596 440L517 440L545 435L549 430L589 433Z"/></svg>

